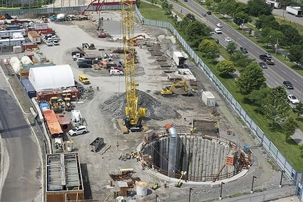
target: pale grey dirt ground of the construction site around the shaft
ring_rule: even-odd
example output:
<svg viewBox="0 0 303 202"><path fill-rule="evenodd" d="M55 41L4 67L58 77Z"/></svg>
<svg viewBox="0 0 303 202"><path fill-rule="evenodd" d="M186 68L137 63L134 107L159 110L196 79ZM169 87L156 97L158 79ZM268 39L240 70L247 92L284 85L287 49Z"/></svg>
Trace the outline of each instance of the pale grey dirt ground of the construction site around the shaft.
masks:
<svg viewBox="0 0 303 202"><path fill-rule="evenodd" d="M106 30L113 37L121 36L121 17L119 12L103 12L108 19L105 25ZM97 19L97 14L93 17ZM115 121L115 118L123 118L125 106L125 79L124 76L110 76L105 69L79 69L76 62L73 61L71 52L77 47L82 47L82 43L94 43L95 50L87 51L92 55L100 54L101 52L111 53L117 47L123 47L121 41L114 41L109 38L97 38L96 23L91 21L72 21L72 22L56 22L49 23L49 27L54 28L60 36L60 46L39 45L42 53L57 65L69 64L72 67L75 80L79 74L88 76L91 85L94 88L93 92L83 94L79 103L75 104L75 109L80 110L88 125L89 133L68 137L74 142L74 151L79 153L85 198L105 199L107 196L118 189L118 183L114 182L114 187L109 187L110 174L117 174L119 169L133 168L135 173L133 176L139 177L141 181L148 182L148 188L153 186L155 178L148 174L146 170L142 170L140 163L135 159L127 161L119 160L120 153L130 153L134 151L138 144L143 140L143 133L122 134ZM110 28L107 28L110 27ZM165 29L157 27L136 25L135 35L145 33L150 37L149 40L161 44L161 50L168 58L168 63L173 65L173 51L180 51L180 47L175 42L171 33ZM104 51L98 51L103 49ZM217 110L219 112L220 135L230 141L236 142L241 147L246 143L252 146L253 152L252 166L247 174L233 182L226 183L223 189L224 197L234 196L240 193L247 193L250 190L252 176L256 176L254 189L262 191L267 189L277 188L279 186L281 173L277 171L277 167L273 165L266 152L258 146L249 129L243 125L238 116L232 112L225 102L224 98L216 91L209 79L198 67L188 61L188 66L194 76L198 80L198 85L194 86L195 96L177 96L177 97L162 97L160 89L171 85L173 81L168 80L164 69L161 68L155 57L151 56L147 51L146 46L142 48L136 47L139 63L137 66L137 81L140 107L146 108L147 117L144 124L152 129L164 130L166 124L173 124L177 128L190 128L192 117L211 117L213 107L206 107L201 99L201 90L211 91L217 100ZM1 56L9 58L10 56ZM120 60L123 60L120 54ZM15 83L15 82L14 82ZM20 87L14 85L17 89L18 97L22 96ZM99 90L97 90L97 87ZM22 99L22 98L20 98ZM25 97L23 97L25 99ZM21 102L25 103L25 102ZM144 106L145 105L145 106ZM27 108L27 107L25 107ZM227 130L230 129L235 135L228 135ZM103 155L101 151L93 153L89 149L91 143L96 137L102 137L105 140L105 148L111 145ZM117 146L117 143L119 146ZM159 195L160 201L187 201L188 183L183 183L181 188L174 187L174 184L169 184L169 188L164 188L164 181L157 179L161 185L156 191L149 189L148 195L137 198L139 201L153 201L156 193ZM169 182L168 182L169 183ZM283 186L290 187L291 182L283 179ZM219 198L220 187L191 186L192 201L207 201ZM283 197L285 195L281 195ZM114 201L112 196L109 196L108 201Z"/></svg>

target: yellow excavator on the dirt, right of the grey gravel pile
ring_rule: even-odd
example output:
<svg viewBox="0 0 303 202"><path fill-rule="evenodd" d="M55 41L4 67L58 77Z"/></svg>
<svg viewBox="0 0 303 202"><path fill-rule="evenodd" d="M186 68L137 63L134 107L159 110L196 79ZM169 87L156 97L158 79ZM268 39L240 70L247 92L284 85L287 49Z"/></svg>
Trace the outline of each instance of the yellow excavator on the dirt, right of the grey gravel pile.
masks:
<svg viewBox="0 0 303 202"><path fill-rule="evenodd" d="M175 88L177 89L183 88L183 89L174 91ZM177 83L174 83L173 85L168 85L165 88L161 89L161 94L164 97L168 97L168 96L175 97L178 94L193 96L193 92L191 92L191 90L188 89L187 81L179 81Z"/></svg>

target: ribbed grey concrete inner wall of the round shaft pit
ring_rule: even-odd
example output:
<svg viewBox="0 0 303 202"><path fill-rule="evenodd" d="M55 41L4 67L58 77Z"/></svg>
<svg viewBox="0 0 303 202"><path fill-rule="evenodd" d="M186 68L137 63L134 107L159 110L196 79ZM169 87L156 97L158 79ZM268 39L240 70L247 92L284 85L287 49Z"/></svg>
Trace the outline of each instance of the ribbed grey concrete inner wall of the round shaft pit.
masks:
<svg viewBox="0 0 303 202"><path fill-rule="evenodd" d="M229 145L217 139L206 139L199 135L179 135L178 138L175 172L180 174L181 171L186 171L187 180L190 181L212 180L230 154ZM143 153L153 157L155 166L168 170L168 137L150 142L144 147ZM234 166L225 166L220 176L232 172L236 172Z"/></svg>

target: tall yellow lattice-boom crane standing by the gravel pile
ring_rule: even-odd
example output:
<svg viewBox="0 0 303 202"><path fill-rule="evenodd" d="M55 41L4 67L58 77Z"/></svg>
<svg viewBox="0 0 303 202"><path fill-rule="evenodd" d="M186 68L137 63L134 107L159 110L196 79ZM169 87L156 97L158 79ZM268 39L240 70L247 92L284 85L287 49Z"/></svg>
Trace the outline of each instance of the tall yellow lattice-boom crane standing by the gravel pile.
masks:
<svg viewBox="0 0 303 202"><path fill-rule="evenodd" d="M138 107L138 95L135 74L135 48L134 43L128 39L134 38L133 2L122 0L122 30L124 43L124 75L126 84L125 126L133 131L141 131L141 119L145 117L145 108Z"/></svg>

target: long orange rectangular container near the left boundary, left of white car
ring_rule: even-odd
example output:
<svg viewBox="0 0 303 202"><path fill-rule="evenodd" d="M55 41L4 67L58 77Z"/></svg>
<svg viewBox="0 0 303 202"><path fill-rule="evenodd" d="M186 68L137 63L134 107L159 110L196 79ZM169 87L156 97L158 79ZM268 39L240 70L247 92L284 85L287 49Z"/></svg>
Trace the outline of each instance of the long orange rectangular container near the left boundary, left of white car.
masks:
<svg viewBox="0 0 303 202"><path fill-rule="evenodd" d="M49 135L52 138L62 137L63 131L54 110L43 111L44 120L46 122Z"/></svg>

